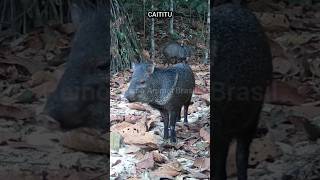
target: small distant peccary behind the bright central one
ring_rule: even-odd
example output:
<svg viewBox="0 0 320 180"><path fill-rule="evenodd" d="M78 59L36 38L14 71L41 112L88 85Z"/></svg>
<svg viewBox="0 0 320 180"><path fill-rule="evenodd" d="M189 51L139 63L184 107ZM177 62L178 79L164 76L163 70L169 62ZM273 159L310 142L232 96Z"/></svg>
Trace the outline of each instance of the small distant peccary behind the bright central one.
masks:
<svg viewBox="0 0 320 180"><path fill-rule="evenodd" d="M191 48L187 45L181 45L176 42L164 46L163 54L165 59L163 64L176 64L178 62L187 62L191 56Z"/></svg>

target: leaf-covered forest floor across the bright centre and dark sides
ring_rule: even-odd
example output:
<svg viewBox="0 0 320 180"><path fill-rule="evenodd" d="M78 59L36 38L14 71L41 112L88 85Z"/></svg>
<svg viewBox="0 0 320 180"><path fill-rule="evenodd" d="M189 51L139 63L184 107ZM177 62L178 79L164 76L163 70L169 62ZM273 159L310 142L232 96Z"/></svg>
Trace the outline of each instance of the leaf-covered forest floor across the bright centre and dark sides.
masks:
<svg viewBox="0 0 320 180"><path fill-rule="evenodd" d="M270 39L275 78L251 147L250 179L317 180L320 7L269 1L255 1L250 7ZM208 65L199 58L191 63L197 88L190 124L178 123L175 147L160 146L163 123L157 111L124 101L130 71L111 79L111 134L121 134L123 141L111 142L121 146L111 151L110 165L106 135L92 129L66 132L41 115L64 71L73 32L72 25L64 24L19 38L10 32L0 34L0 179L107 179L109 167L114 179L209 178L210 81ZM229 177L235 179L234 146L228 163Z"/></svg>

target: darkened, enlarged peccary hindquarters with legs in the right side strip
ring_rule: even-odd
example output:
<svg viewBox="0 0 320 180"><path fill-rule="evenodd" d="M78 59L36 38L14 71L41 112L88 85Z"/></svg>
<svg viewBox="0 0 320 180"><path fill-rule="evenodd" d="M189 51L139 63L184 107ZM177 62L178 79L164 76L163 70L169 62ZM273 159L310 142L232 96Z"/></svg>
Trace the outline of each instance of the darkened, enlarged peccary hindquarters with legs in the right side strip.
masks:
<svg viewBox="0 0 320 180"><path fill-rule="evenodd" d="M227 179L228 148L236 139L237 177L246 180L249 147L272 80L270 47L255 15L240 3L214 7L211 18L213 179Z"/></svg>

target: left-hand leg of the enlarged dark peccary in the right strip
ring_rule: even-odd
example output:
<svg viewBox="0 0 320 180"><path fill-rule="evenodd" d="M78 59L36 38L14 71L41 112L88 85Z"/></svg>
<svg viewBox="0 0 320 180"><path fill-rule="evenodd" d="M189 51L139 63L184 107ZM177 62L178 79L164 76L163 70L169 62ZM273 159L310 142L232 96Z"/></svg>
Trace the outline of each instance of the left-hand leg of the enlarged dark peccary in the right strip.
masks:
<svg viewBox="0 0 320 180"><path fill-rule="evenodd" d="M214 180L226 180L226 161L229 151L229 144L231 138L225 136L223 130L219 130L219 127L215 127L213 132L213 179Z"/></svg>

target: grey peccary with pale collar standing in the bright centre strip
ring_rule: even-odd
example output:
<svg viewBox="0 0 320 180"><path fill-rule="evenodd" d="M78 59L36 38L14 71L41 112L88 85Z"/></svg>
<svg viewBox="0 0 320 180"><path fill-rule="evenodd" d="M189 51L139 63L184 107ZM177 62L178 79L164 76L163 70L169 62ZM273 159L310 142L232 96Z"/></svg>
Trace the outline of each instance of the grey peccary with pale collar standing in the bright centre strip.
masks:
<svg viewBox="0 0 320 180"><path fill-rule="evenodd" d="M181 118L182 106L184 122L188 122L188 106L195 86L190 66L179 63L160 69L151 63L138 63L133 65L133 69L125 98L129 102L148 103L159 110L164 122L164 139L168 140L170 134L170 141L175 143L175 124Z"/></svg>

